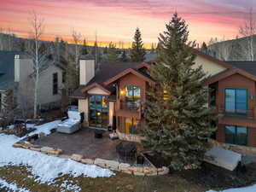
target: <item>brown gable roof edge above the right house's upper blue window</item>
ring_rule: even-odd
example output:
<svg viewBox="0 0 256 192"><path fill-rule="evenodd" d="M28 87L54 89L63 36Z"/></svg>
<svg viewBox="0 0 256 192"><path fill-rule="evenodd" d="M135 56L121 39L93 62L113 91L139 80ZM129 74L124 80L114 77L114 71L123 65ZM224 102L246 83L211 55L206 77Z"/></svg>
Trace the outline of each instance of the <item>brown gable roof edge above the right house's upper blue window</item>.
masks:
<svg viewBox="0 0 256 192"><path fill-rule="evenodd" d="M241 70L240 68L232 68L213 75L210 79L207 79L207 81L204 82L203 85L213 84L221 79L226 79L227 77L233 74L241 74L242 76L247 77L247 79L252 79L253 81L256 81L256 76L254 76L253 74L247 73L246 71Z"/></svg>

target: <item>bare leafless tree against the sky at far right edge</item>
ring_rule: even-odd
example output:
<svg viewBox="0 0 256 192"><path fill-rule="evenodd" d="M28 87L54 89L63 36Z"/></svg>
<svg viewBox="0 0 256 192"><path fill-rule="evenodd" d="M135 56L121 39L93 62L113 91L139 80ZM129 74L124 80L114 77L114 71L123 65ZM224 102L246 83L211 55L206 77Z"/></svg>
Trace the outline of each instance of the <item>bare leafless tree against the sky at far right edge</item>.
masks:
<svg viewBox="0 0 256 192"><path fill-rule="evenodd" d="M253 35L256 32L256 22L253 19L253 9L250 9L247 18L244 21L243 26L240 26L239 33L242 37L247 38L247 44L245 46L245 53L248 61L254 61L253 54Z"/></svg>

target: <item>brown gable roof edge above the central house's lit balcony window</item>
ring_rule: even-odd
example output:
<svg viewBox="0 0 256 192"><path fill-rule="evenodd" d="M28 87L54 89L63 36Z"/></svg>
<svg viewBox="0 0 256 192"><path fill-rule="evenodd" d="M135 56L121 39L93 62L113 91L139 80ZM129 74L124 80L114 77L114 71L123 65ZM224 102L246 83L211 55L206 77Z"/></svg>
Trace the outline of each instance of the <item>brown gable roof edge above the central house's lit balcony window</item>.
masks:
<svg viewBox="0 0 256 192"><path fill-rule="evenodd" d="M108 84L112 84L113 82L115 82L116 80L124 77L125 75L129 74L129 73L132 73L134 75L136 75L137 77L145 80L145 81L148 81L149 83L151 84L154 84L154 81L146 74L143 74L142 72L139 72L138 70L136 69L133 69L133 68L127 68L125 71L123 71L122 73L119 73L117 74L116 76L114 76L113 78L111 79L108 79L106 82L104 82L104 84L108 85ZM148 76L148 77L147 77Z"/></svg>

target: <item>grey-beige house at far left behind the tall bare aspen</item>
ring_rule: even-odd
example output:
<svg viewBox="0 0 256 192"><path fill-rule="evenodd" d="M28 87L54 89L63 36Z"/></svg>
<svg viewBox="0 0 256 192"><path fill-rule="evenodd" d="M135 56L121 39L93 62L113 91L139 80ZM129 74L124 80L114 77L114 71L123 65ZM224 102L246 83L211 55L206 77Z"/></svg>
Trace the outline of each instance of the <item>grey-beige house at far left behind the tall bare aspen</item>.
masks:
<svg viewBox="0 0 256 192"><path fill-rule="evenodd" d="M15 90L18 108L30 110L33 106L34 79L33 63L28 55L17 51L0 51L0 93L1 101L6 91ZM40 69L38 84L38 105L61 100L63 64L47 59Z"/></svg>

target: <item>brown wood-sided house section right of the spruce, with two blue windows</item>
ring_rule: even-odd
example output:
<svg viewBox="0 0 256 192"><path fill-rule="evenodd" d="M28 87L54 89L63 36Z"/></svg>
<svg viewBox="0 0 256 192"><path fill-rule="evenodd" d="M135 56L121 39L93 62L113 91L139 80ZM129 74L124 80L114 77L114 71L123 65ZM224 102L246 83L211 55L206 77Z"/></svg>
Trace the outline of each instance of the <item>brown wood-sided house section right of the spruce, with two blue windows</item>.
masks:
<svg viewBox="0 0 256 192"><path fill-rule="evenodd" d="M216 139L256 147L256 62L227 61L230 67L205 82L209 106L221 114Z"/></svg>

